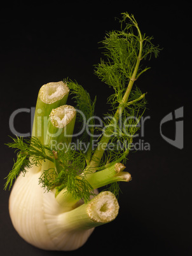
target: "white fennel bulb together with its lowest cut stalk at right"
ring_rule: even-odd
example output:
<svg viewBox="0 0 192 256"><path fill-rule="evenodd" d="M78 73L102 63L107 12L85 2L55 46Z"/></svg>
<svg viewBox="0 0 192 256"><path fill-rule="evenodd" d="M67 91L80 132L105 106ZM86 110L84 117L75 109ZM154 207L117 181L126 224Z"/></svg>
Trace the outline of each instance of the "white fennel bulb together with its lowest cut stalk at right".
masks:
<svg viewBox="0 0 192 256"><path fill-rule="evenodd" d="M9 210L13 226L31 245L44 250L76 250L82 246L94 226L113 220L118 214L118 202L110 192L99 194L99 201L86 204L85 220L74 207L57 203L54 192L45 192L39 185L41 168L33 166L20 174L10 194ZM110 204L110 206L109 206ZM78 207L77 207L78 206ZM81 211L82 205L76 204ZM84 211L83 210L83 211ZM79 216L79 219L78 219Z"/></svg>

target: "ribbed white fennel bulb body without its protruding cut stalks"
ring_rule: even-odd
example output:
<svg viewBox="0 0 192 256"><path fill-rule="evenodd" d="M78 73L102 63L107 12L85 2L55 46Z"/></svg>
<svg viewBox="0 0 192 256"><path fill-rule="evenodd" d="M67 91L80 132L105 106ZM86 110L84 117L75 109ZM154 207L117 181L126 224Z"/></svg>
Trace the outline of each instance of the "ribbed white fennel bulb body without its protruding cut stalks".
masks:
<svg viewBox="0 0 192 256"><path fill-rule="evenodd" d="M39 185L41 171L32 167L25 176L18 176L11 190L10 217L18 234L31 245L44 250L76 250L82 246L93 229L65 230L59 215L72 208L60 206L53 192Z"/></svg>

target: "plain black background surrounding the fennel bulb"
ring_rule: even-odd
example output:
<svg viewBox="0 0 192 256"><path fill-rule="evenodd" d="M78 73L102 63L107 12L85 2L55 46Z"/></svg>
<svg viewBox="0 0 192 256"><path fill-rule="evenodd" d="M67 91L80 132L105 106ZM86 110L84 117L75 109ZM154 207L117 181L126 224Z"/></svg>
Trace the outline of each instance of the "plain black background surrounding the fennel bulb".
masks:
<svg viewBox="0 0 192 256"><path fill-rule="evenodd" d="M45 5L17 2L1 8L1 220L2 255L191 255L191 17L189 1L57 2ZM4 177L14 152L4 146L13 136L9 118L18 108L34 107L39 88L64 78L77 80L92 98L96 114L107 111L110 91L93 65L100 60L98 42L106 31L119 29L114 17L133 13L142 32L154 36L163 50L151 59L152 68L136 82L147 91L150 117L144 124L149 151L130 153L130 183L121 184L120 213L98 227L86 245L74 252L46 252L25 243L13 229L8 213L9 191ZM160 135L160 121L184 106L184 148ZM30 132L30 113L15 118L15 129ZM163 126L174 139L175 124Z"/></svg>

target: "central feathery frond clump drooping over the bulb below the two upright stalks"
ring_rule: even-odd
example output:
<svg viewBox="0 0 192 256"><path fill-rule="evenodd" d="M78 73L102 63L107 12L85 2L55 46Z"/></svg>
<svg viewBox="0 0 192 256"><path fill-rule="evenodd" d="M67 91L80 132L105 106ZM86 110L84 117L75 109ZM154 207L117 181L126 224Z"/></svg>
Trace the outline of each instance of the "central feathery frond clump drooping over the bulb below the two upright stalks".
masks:
<svg viewBox="0 0 192 256"><path fill-rule="evenodd" d="M74 199L83 199L87 202L93 195L93 188L86 181L85 176L81 176L85 169L86 160L83 153L72 148L58 150L57 152L57 169L44 170L39 178L41 187L46 191L57 188L57 192L65 189Z"/></svg>

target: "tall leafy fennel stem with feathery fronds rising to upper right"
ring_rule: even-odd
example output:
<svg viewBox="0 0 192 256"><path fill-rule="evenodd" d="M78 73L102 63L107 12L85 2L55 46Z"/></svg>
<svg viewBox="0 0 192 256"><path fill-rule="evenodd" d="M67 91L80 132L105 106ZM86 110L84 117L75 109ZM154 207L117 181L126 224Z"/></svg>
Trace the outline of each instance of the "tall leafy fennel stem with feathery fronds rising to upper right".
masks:
<svg viewBox="0 0 192 256"><path fill-rule="evenodd" d="M150 59L152 54L157 57L160 51L153 45L153 37L141 33L133 15L122 14L121 30L108 32L101 42L104 58L95 68L95 75L112 87L114 94L108 98L112 114L106 115L101 143L99 141L91 160L93 166L127 159L146 109L146 93L133 85L149 69L141 66L142 59ZM102 143L107 146L100 150Z"/></svg>

